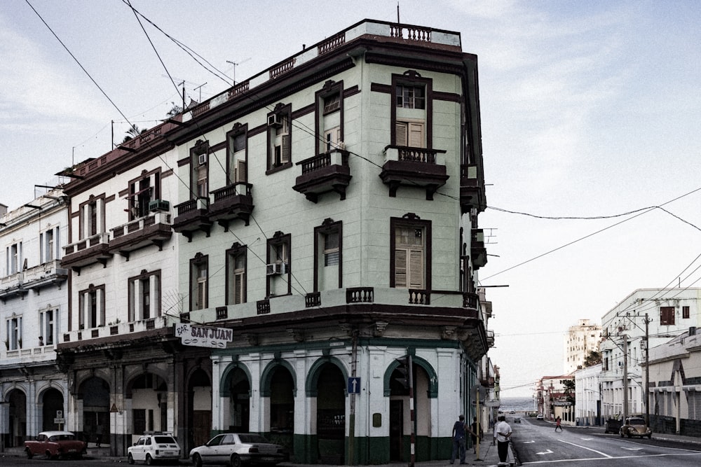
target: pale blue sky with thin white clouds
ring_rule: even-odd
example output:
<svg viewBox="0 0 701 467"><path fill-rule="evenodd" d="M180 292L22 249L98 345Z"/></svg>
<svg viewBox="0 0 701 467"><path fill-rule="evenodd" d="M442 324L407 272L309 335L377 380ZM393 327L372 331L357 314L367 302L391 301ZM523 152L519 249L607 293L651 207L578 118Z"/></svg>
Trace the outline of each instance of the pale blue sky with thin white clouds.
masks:
<svg viewBox="0 0 701 467"><path fill-rule="evenodd" d="M1 2L0 204L107 153L127 122L156 125L182 82L201 101L355 22L397 20L396 0L130 4L153 24L126 0ZM478 57L489 356L502 396L532 396L562 374L578 319L637 288L701 286L701 2L399 4L400 22L460 32Z"/></svg>

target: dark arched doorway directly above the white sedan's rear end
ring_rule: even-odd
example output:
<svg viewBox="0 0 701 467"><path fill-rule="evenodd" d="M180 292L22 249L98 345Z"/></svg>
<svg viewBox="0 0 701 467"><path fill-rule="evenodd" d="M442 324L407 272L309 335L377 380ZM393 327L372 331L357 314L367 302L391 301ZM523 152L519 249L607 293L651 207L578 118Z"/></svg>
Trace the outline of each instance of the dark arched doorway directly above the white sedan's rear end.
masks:
<svg viewBox="0 0 701 467"><path fill-rule="evenodd" d="M276 365L270 377L270 434L273 442L294 453L294 379L284 365Z"/></svg>

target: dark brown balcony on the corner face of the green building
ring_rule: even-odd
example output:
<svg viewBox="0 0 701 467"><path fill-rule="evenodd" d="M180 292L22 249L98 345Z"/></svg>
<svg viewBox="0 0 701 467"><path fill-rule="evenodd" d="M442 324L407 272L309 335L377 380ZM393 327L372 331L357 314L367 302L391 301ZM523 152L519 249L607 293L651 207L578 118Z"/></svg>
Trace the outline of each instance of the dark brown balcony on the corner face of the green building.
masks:
<svg viewBox="0 0 701 467"><path fill-rule="evenodd" d="M426 200L433 200L433 193L449 178L444 153L439 149L386 146L380 178L390 187L390 197L405 185L426 188Z"/></svg>

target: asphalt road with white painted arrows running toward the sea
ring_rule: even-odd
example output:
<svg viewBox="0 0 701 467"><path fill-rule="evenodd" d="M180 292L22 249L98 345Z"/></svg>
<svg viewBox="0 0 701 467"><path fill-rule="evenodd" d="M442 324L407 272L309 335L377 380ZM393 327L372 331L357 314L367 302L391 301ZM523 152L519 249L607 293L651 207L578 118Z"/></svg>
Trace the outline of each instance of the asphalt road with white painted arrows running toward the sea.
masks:
<svg viewBox="0 0 701 467"><path fill-rule="evenodd" d="M701 445L655 440L620 438L604 434L603 428L564 427L522 417L512 423L512 442L522 465L557 463L564 466L684 467L701 464Z"/></svg>

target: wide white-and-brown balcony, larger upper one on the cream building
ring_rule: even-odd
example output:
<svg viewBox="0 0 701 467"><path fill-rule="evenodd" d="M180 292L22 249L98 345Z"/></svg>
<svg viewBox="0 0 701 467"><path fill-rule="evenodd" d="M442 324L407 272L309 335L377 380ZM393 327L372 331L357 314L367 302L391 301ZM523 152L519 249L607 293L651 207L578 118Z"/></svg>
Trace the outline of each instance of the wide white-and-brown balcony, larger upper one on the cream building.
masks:
<svg viewBox="0 0 701 467"><path fill-rule="evenodd" d="M144 248L144 246L156 245L161 250L163 242L172 236L170 214L156 212L150 216L119 225L111 231L110 253L119 253L128 259L131 251Z"/></svg>

